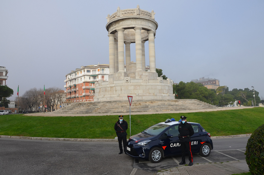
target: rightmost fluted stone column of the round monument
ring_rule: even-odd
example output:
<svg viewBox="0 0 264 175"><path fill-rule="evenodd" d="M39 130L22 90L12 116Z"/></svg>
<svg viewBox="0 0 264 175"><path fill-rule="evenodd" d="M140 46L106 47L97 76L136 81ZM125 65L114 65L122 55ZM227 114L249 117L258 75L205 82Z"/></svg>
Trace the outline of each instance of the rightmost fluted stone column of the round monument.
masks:
<svg viewBox="0 0 264 175"><path fill-rule="evenodd" d="M148 31L149 71L156 72L155 41L153 30Z"/></svg>

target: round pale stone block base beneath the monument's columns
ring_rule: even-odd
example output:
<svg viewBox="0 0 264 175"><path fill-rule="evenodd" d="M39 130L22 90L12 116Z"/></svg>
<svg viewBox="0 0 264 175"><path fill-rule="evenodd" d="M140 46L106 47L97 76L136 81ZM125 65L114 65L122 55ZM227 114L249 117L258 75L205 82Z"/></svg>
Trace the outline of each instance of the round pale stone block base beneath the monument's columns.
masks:
<svg viewBox="0 0 264 175"><path fill-rule="evenodd" d="M95 84L94 101L127 100L127 95L133 96L133 100L175 99L173 81L155 77L156 72L139 72L136 77L141 78L124 76L123 79L118 74L120 73L111 74L108 81L98 81ZM156 79L149 79L149 76Z"/></svg>

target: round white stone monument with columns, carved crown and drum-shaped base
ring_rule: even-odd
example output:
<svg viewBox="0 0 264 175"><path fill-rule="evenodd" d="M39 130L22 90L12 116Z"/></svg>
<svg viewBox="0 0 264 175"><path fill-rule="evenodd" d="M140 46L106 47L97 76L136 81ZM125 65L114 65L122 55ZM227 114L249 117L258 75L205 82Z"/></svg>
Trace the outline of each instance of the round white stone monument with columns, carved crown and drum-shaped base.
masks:
<svg viewBox="0 0 264 175"><path fill-rule="evenodd" d="M94 101L127 100L127 95L133 96L133 100L175 99L172 80L163 80L156 72L155 35L158 24L154 15L153 10L148 12L138 5L125 10L118 7L117 12L107 16L110 74L108 81L95 84ZM150 71L145 70L146 41ZM136 62L130 61L131 43L136 44Z"/></svg>

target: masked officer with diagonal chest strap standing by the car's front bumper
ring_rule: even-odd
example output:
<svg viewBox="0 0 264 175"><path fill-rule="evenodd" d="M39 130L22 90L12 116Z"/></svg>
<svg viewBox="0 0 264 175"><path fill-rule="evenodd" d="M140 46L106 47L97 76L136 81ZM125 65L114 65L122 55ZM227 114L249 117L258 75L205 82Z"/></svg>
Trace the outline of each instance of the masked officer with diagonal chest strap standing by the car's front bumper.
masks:
<svg viewBox="0 0 264 175"><path fill-rule="evenodd" d="M119 149L120 149L120 153L118 154L122 154L123 153L123 149L122 149L122 141L123 141L123 145L124 145L124 150L125 150L125 154L126 154L126 130L128 128L127 122L125 120L123 120L122 115L118 116L119 120L116 122L115 124L115 131L116 131L116 136L118 139L118 143L119 143Z"/></svg>

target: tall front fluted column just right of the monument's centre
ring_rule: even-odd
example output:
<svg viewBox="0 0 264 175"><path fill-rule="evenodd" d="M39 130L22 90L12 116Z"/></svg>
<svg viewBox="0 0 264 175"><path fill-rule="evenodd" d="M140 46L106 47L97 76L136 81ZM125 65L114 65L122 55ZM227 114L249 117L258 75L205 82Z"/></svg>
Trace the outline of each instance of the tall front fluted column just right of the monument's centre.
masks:
<svg viewBox="0 0 264 175"><path fill-rule="evenodd" d="M136 71L142 71L142 45L141 45L141 27L135 27L136 34Z"/></svg>

